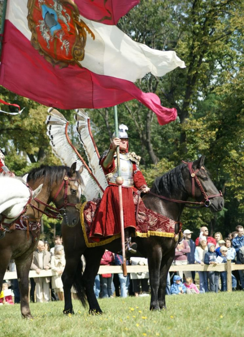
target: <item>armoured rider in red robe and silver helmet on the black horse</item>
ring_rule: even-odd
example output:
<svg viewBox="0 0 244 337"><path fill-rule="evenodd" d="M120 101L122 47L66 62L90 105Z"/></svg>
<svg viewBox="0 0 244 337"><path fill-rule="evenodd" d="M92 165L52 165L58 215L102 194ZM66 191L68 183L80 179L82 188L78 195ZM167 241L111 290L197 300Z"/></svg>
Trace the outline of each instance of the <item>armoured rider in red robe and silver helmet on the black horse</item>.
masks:
<svg viewBox="0 0 244 337"><path fill-rule="evenodd" d="M128 152L129 142L126 130L127 126L121 124L119 127L119 137L113 135L110 149L105 151L100 158L100 165L104 171L109 186L105 189L102 201L97 210L94 222L91 228L90 237L96 240L97 237L109 237L121 232L119 192L116 184L117 172L117 154L116 148L120 147L120 165L123 200L123 218L124 218L124 239L125 252L136 253L137 244L131 243L131 234L136 228L136 212L133 196L138 190L148 193L146 181L139 169L141 157L134 152Z"/></svg>

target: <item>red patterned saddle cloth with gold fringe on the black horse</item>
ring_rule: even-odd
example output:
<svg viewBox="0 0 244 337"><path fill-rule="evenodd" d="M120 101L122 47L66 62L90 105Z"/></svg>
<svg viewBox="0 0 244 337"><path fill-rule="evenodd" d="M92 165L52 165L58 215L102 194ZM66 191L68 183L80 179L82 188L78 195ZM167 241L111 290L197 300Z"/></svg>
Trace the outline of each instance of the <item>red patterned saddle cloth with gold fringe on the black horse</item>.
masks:
<svg viewBox="0 0 244 337"><path fill-rule="evenodd" d="M138 198L134 198L135 207ZM91 225L94 219L96 210L101 202L101 199L96 199L89 202L84 202L81 206L81 227L83 230L85 243L87 247L96 247L106 245L113 240L120 238L121 233L115 233L109 237L98 237L96 239L89 238ZM176 222L164 217L161 214L153 212L145 207L142 200L139 202L138 221L136 228L136 236L148 238L151 235L174 238ZM96 242L95 242L96 240Z"/></svg>

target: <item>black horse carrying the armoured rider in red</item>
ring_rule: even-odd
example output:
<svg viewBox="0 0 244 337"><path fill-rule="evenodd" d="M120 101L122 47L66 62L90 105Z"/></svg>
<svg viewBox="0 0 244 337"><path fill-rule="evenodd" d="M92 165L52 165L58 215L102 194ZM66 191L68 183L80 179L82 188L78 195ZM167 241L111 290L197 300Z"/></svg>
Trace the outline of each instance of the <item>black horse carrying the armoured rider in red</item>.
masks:
<svg viewBox="0 0 244 337"><path fill-rule="evenodd" d="M175 222L180 221L189 197L194 197L201 205L209 206L213 212L221 211L224 206L223 196L209 178L203 161L204 157L201 157L193 163L182 163L157 178L151 188L152 194L143 197L145 206ZM165 199L161 199L161 196ZM182 202L177 202L175 199ZM175 234L181 234L179 223L175 225ZM93 290L95 276L105 248L117 253L121 250L121 240L114 240L102 247L88 248L85 245L81 222L74 227L62 225L62 237L66 258L66 266L62 274L65 300L63 312L73 313L70 289L74 284L81 303L85 305L88 301L90 313L102 313ZM149 238L135 237L132 241L138 245L139 256L148 259L151 286L150 310L166 308L166 278L174 260L178 240L173 237L150 236ZM86 259L83 274L81 272L82 254Z"/></svg>

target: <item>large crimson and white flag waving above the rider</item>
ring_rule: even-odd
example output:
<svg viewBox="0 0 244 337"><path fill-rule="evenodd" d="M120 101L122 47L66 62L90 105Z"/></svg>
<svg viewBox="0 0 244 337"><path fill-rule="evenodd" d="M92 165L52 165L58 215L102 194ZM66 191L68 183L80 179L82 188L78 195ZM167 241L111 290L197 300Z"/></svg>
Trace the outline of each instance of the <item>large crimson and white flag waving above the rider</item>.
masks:
<svg viewBox="0 0 244 337"><path fill-rule="evenodd" d="M113 2L113 3L112 3ZM160 124L176 119L133 82L185 67L174 51L134 42L115 24L139 1L8 0L0 84L60 109L105 108L137 99Z"/></svg>

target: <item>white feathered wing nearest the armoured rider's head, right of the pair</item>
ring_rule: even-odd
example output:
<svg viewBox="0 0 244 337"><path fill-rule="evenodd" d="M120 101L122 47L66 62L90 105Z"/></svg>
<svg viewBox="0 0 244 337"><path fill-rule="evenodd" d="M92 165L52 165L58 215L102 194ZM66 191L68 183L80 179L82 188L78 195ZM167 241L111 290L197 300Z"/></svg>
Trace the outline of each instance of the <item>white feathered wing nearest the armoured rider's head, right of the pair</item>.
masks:
<svg viewBox="0 0 244 337"><path fill-rule="evenodd" d="M108 183L102 167L99 164L100 156L91 133L90 118L84 110L77 109L75 119L79 139L85 150L85 154L89 162L89 167L92 169L92 173L100 183L102 189L105 190L105 188L108 186Z"/></svg>

